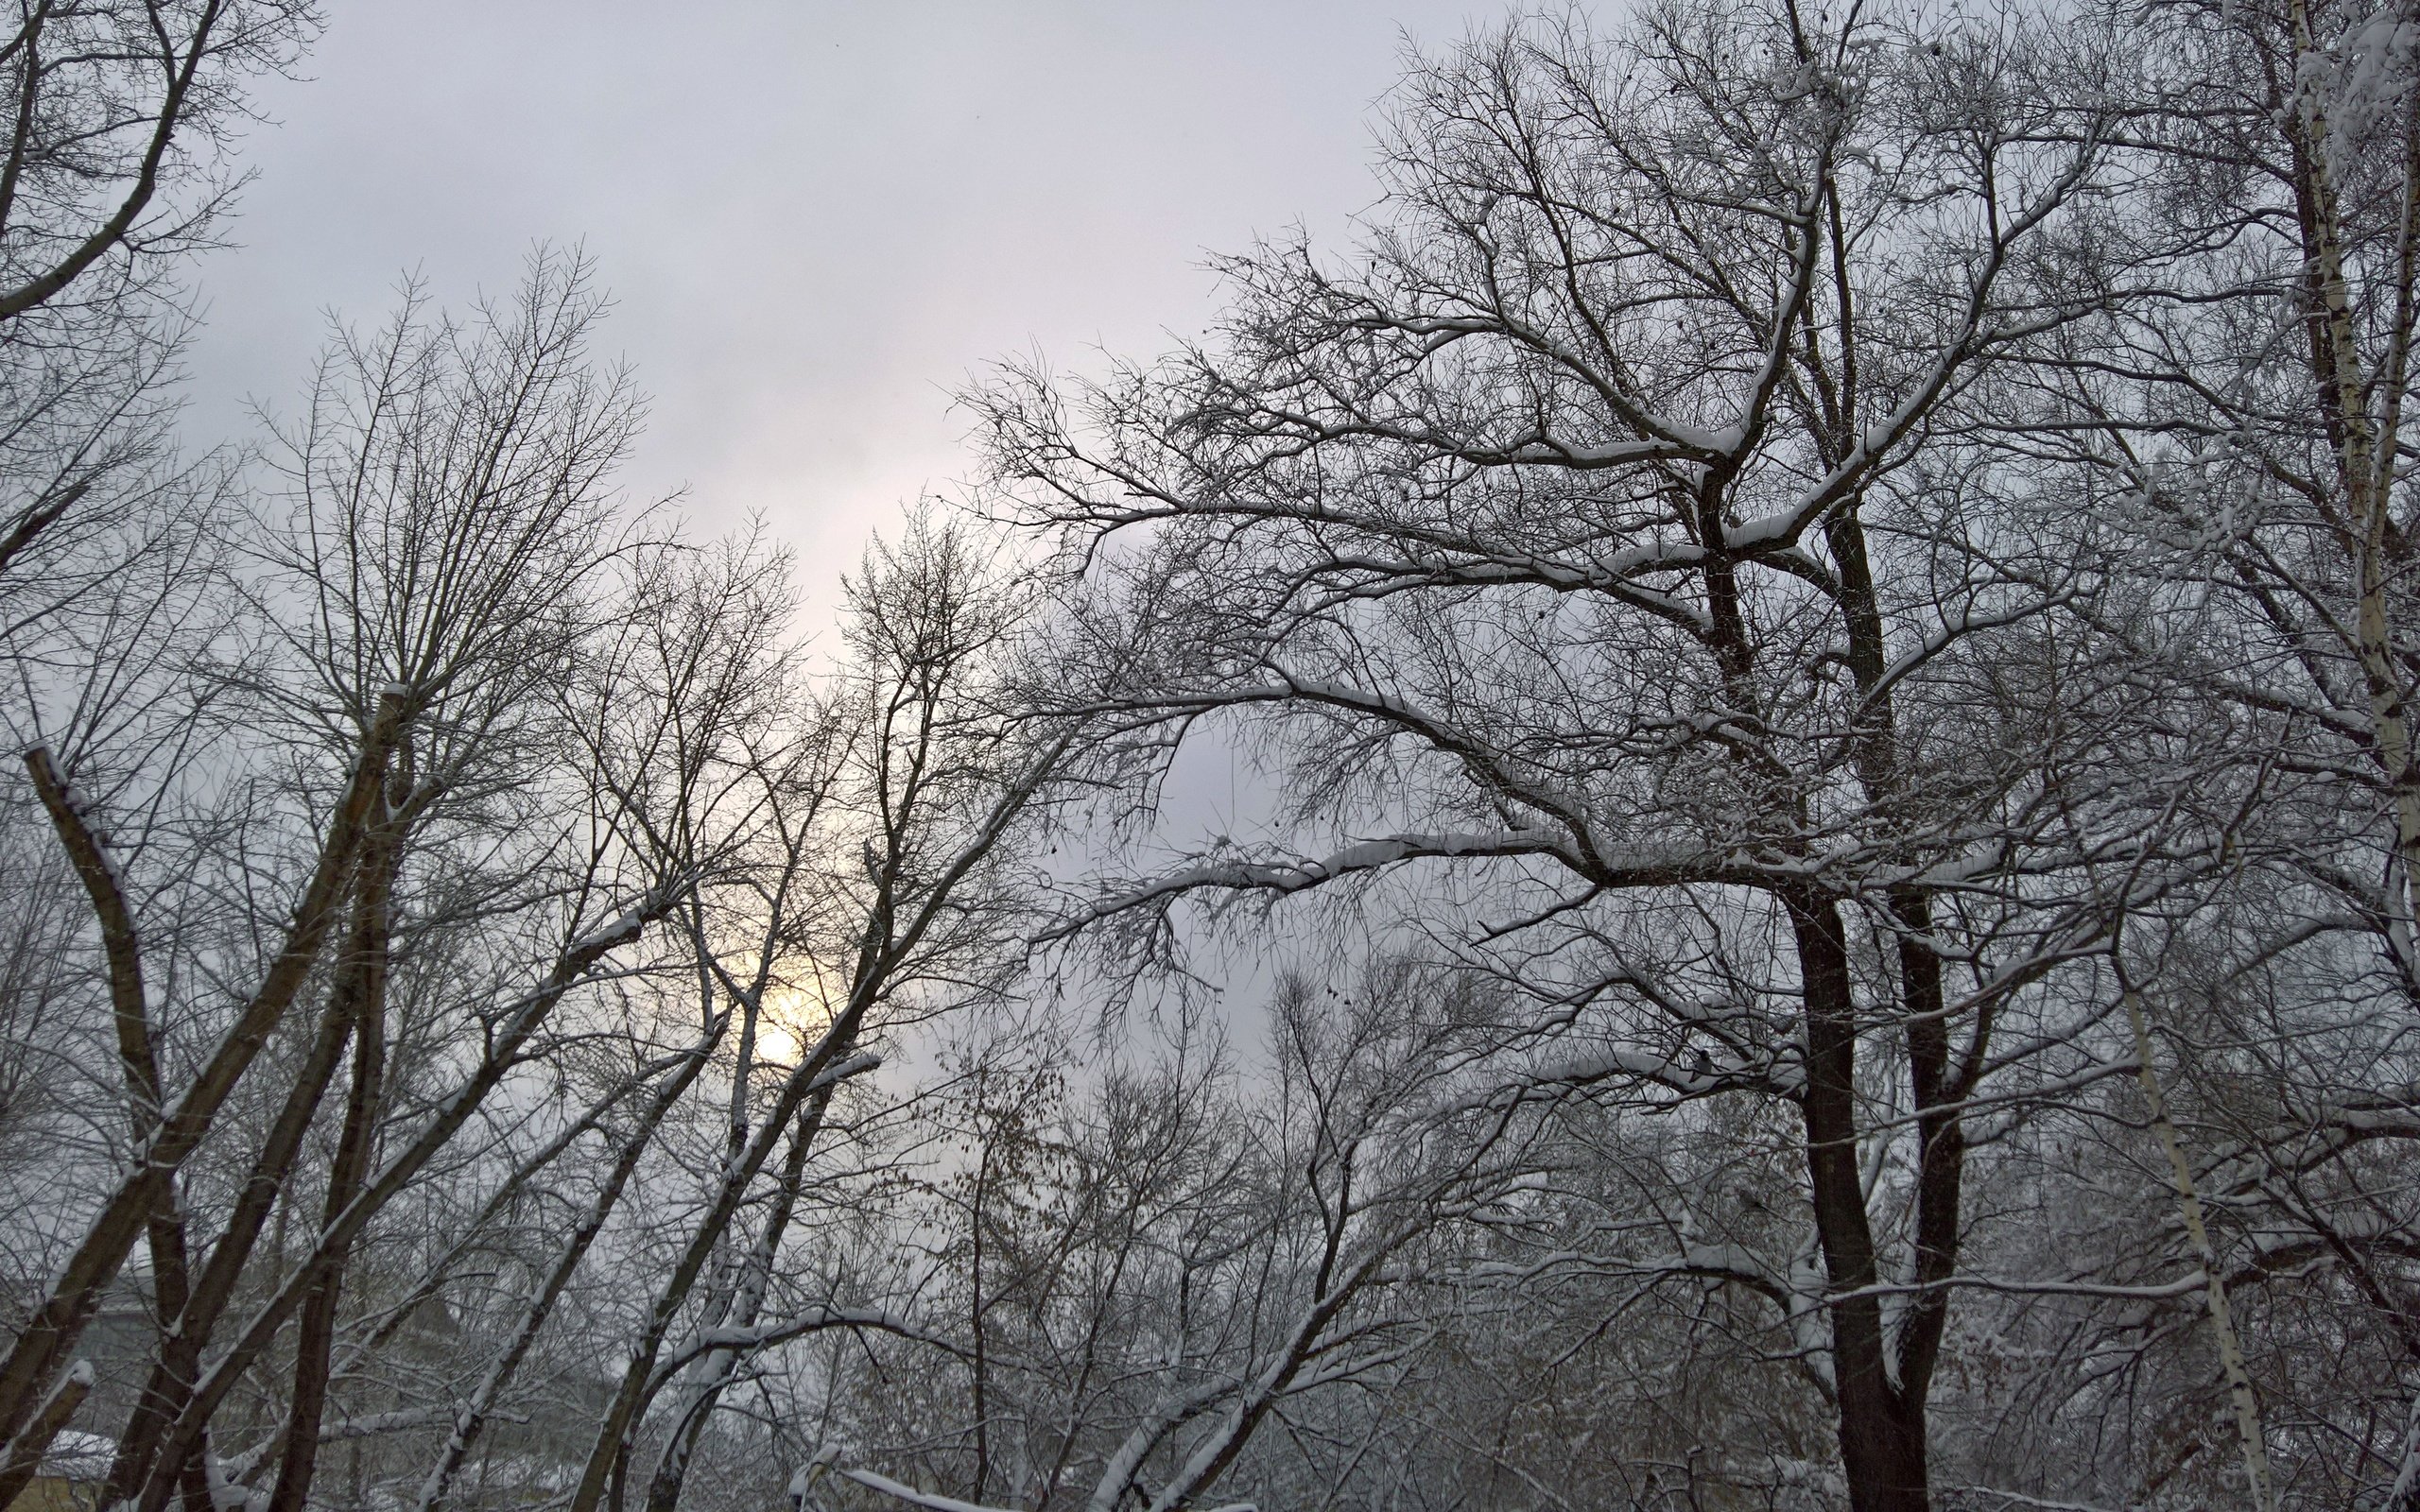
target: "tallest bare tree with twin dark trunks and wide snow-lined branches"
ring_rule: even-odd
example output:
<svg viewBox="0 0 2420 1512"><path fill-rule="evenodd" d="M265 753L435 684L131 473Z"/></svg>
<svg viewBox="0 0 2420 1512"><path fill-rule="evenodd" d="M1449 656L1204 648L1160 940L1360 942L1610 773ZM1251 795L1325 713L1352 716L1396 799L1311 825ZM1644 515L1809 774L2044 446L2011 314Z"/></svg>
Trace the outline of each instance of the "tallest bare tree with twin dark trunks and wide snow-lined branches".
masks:
<svg viewBox="0 0 2420 1512"><path fill-rule="evenodd" d="M1285 757L1300 839L1079 922L1399 876L1532 994L1508 1045L1571 1045L1537 1086L1791 1110L1820 1280L1740 1285L1817 1287L1856 1507L1929 1502L1965 1108L2113 1069L2023 1004L2101 931L2050 752L2132 702L2052 629L2091 525L1992 450L2098 300L2057 249L2108 65L2016 12L1515 27L1413 65L1355 264L1261 249L1217 348L975 397L1002 508L1106 585L1077 697L1152 716L1104 772L1251 716ZM2062 798L2120 849L2134 801Z"/></svg>

